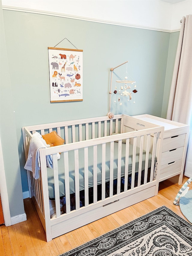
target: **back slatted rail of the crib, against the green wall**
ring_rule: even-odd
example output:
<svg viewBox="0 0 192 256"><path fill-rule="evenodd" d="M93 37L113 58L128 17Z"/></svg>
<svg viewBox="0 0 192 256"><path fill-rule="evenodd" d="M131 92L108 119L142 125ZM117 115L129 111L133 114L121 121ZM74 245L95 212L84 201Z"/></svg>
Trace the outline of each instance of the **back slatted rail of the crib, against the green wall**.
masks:
<svg viewBox="0 0 192 256"><path fill-rule="evenodd" d="M116 115L113 119L108 116L101 118L88 118L66 122L50 123L44 125L28 126L28 132L32 134L38 131L41 135L56 131L65 140L65 144L82 140L90 140L120 133L122 115Z"/></svg>

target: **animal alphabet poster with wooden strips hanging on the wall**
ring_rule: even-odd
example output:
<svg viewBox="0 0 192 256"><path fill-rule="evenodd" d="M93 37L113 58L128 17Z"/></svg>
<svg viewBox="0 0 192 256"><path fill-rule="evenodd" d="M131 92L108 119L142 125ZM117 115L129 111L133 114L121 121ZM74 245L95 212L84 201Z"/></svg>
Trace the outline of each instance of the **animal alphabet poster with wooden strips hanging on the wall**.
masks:
<svg viewBox="0 0 192 256"><path fill-rule="evenodd" d="M51 102L83 100L82 52L48 47Z"/></svg>

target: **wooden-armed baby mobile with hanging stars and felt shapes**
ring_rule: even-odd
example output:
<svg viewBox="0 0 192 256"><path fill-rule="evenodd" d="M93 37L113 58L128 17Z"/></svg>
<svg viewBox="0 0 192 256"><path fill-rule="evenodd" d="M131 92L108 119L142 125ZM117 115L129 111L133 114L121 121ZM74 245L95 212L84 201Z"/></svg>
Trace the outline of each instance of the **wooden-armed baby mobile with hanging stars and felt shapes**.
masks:
<svg viewBox="0 0 192 256"><path fill-rule="evenodd" d="M122 97L127 97L127 101L132 99L132 92L134 93L134 102L135 103L135 94L137 91L136 87L136 82L131 78L131 76L128 74L127 72L127 63L128 61L122 63L121 65L115 67L118 68L124 64L126 64L126 72L122 75L122 77L120 77L120 80L116 80L116 86L115 86L115 90L114 90L114 94L115 94L115 100L114 102L116 103L116 101L119 103L119 105L121 106L122 103ZM115 68L111 68L111 83L110 83L110 102L109 102L109 113L107 114L107 116L109 116L109 118L113 118L114 114L110 112L111 109L111 94L112 94L112 77L113 77L113 71ZM133 90L134 89L134 90Z"/></svg>

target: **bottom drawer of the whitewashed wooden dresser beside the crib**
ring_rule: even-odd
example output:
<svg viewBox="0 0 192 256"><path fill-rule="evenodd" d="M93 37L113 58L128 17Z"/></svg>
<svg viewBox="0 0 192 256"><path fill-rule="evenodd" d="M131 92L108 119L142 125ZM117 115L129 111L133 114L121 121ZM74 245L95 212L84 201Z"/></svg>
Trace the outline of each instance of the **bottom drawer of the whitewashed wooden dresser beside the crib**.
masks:
<svg viewBox="0 0 192 256"><path fill-rule="evenodd" d="M175 161L171 164L165 164L161 166L160 169L160 176L159 179L161 181L161 179L163 180L163 178L169 176L169 175L173 175L174 173L178 173L181 171L181 167L182 167L182 159Z"/></svg>

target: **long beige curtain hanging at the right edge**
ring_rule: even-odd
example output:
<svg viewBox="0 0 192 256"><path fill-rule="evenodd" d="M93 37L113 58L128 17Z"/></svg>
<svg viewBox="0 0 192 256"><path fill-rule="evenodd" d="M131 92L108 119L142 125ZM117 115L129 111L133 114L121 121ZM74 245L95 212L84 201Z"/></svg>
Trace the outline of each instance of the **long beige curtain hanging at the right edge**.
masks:
<svg viewBox="0 0 192 256"><path fill-rule="evenodd" d="M167 119L190 125L185 173L192 176L192 15L182 19Z"/></svg>

